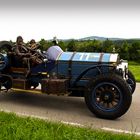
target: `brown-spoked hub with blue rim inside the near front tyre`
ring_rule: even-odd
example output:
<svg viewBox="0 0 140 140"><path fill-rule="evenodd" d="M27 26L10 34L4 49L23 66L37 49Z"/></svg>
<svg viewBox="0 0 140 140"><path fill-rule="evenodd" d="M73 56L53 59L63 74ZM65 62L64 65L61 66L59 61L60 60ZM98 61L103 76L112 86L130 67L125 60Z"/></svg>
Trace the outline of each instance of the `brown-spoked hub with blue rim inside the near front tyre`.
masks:
<svg viewBox="0 0 140 140"><path fill-rule="evenodd" d="M94 88L92 100L101 110L113 111L121 104L122 94L115 84L104 82Z"/></svg>

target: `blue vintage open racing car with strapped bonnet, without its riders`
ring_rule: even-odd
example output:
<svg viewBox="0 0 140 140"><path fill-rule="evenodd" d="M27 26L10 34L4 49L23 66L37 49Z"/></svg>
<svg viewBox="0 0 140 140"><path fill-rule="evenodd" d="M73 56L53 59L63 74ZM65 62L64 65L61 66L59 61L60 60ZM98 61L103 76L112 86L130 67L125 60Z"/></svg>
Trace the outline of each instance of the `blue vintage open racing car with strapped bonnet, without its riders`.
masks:
<svg viewBox="0 0 140 140"><path fill-rule="evenodd" d="M136 82L117 53L58 51L52 59L45 51L41 64L26 67L9 54L11 47L9 42L0 43L1 90L82 96L89 110L105 119L116 119L129 109Z"/></svg>

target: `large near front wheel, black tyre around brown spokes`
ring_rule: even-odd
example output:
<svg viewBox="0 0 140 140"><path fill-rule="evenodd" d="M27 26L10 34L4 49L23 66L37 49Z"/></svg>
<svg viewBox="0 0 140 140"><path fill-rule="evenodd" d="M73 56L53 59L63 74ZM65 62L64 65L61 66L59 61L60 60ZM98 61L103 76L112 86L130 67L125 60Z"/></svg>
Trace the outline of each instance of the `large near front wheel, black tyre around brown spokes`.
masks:
<svg viewBox="0 0 140 140"><path fill-rule="evenodd" d="M85 102L97 117L116 119L129 109L132 94L128 84L116 74L99 75L91 81Z"/></svg>

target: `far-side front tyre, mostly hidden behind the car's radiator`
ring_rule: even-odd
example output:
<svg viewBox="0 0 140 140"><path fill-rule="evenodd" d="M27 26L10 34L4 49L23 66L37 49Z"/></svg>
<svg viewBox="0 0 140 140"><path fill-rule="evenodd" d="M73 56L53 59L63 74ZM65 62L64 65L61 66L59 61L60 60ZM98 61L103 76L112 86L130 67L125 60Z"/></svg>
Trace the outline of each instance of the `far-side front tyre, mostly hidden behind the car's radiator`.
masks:
<svg viewBox="0 0 140 140"><path fill-rule="evenodd" d="M136 89L136 80L134 75L132 74L132 72L130 70L128 70L128 79L127 79L127 83L130 87L130 90L132 92L132 94L134 93L135 89Z"/></svg>

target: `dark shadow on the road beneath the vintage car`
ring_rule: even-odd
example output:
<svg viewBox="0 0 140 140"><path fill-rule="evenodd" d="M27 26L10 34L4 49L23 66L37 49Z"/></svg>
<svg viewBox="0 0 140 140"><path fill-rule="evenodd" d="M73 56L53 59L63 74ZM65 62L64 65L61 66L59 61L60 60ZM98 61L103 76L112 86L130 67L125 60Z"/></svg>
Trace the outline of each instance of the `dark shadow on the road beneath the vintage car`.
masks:
<svg viewBox="0 0 140 140"><path fill-rule="evenodd" d="M29 106L33 108L69 111L83 115L93 114L88 110L83 97L67 97L46 94L10 92L0 95L0 102L9 102L19 106Z"/></svg>

